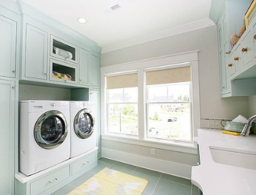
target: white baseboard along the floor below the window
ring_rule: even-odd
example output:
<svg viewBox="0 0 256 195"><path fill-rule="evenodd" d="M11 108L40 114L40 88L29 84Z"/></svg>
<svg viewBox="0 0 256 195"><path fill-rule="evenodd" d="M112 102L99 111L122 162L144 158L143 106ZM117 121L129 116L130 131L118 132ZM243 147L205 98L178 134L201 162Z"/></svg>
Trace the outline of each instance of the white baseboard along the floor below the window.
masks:
<svg viewBox="0 0 256 195"><path fill-rule="evenodd" d="M135 155L132 153L122 152L119 150L112 150L106 147L102 147L102 157L117 160L120 162L125 162L127 164L135 165L137 167L151 169L157 172L172 174L177 177L191 179L192 167L190 165L183 165L176 162L159 160L156 158L145 157L142 155Z"/></svg>

